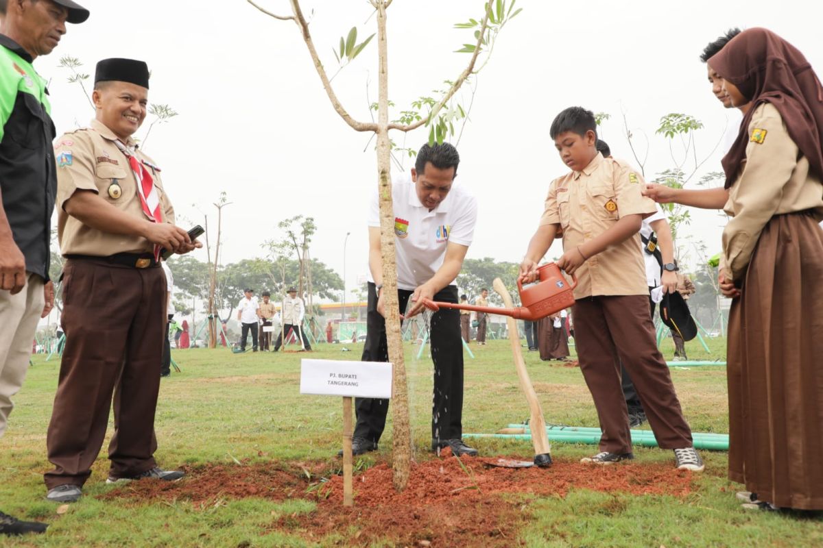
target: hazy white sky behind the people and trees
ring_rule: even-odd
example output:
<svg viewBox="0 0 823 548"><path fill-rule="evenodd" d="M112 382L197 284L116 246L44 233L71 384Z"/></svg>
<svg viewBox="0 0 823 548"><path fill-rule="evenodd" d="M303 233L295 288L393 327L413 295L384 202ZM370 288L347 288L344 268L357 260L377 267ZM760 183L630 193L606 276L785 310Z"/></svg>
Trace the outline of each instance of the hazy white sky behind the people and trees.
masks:
<svg viewBox="0 0 823 548"><path fill-rule="evenodd" d="M260 0L287 15L285 0ZM312 255L342 272L346 286L366 271L366 201L376 184L369 137L357 134L333 112L309 54L291 21L275 21L244 0L224 2L124 2L81 0L91 10L35 67L51 79L58 133L85 125L93 115L59 58L71 55L93 75L101 58L148 62L151 102L170 104L179 116L155 127L146 152L163 168L167 191L181 224L202 223L202 213L221 191L223 262L262 256L259 244L277 237L277 222L296 214L318 223ZM302 2L323 62L341 35L356 25L360 37L374 32L365 0ZM611 113L602 137L616 157L631 159L621 113L635 135L649 136L645 169L652 176L672 167L667 143L653 136L660 117L689 113L704 122L699 157L709 154L729 118L710 93L704 46L731 26L766 26L790 40L816 67L823 67L819 2L548 2L518 0L523 12L507 26L491 62L476 80L477 94L463 139L458 182L479 200L480 218L469 257L518 261L537 226L551 179L565 173L548 137L556 113L571 105ZM481 0L395 0L388 10L389 94L398 108L454 79L468 60L452 53L471 42L453 29L480 19ZM376 41L334 80L344 107L369 119L377 97ZM463 102L471 99L469 88ZM147 120L148 122L148 120ZM146 124L147 124L146 122ZM402 135L393 137L402 141ZM419 147L425 129L408 136ZM642 147L641 138L641 147ZM365 152L364 152L365 149ZM703 172L718 171L720 154ZM410 165L407 163L406 168ZM651 177L650 177L651 178ZM696 179L697 177L695 177ZM693 212L684 232L719 251L723 218ZM559 255L556 244L549 256ZM198 257L205 260L205 251Z"/></svg>

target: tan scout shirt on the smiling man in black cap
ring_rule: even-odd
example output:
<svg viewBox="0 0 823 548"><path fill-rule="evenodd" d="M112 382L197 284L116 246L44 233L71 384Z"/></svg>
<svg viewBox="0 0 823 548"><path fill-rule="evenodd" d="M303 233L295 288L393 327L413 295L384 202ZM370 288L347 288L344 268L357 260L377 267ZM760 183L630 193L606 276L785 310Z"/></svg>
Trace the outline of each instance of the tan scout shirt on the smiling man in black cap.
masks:
<svg viewBox="0 0 823 548"><path fill-rule="evenodd" d="M57 168L57 211L58 241L60 252L65 255L109 256L115 253L151 253L153 245L144 237L104 233L81 223L63 210L66 200L77 190L95 191L101 198L121 210L123 214L148 220L143 213L137 182L128 165L128 158L120 152L114 141L118 137L97 120L91 127L69 131L63 134L55 147L56 154L68 153L70 161L63 160ZM134 140L124 143L133 150ZM163 221L174 223L174 208L169 196L163 191L160 172L152 167L155 163L139 150L137 159L145 160L146 168L154 178L160 196ZM65 158L65 157L64 157ZM109 185L116 180L122 195L114 199L109 196Z"/></svg>

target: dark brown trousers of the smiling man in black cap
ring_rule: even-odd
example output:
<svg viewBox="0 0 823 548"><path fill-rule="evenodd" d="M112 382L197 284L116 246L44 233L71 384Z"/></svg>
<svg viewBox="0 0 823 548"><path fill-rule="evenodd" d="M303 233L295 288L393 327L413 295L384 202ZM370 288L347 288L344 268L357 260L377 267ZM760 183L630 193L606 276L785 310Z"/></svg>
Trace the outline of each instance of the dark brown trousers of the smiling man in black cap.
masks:
<svg viewBox="0 0 823 548"><path fill-rule="evenodd" d="M52 489L82 486L100 453L114 392L110 475L130 477L156 466L154 418L163 354L166 282L159 267L69 259L63 277L60 364L46 444Z"/></svg>

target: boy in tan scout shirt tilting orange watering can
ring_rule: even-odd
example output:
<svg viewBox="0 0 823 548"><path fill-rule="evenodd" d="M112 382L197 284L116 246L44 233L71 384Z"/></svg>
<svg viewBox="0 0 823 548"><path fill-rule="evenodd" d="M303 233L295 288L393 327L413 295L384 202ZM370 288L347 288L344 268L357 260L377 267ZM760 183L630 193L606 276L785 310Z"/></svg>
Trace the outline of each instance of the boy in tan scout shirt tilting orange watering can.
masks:
<svg viewBox="0 0 823 548"><path fill-rule="evenodd" d="M635 380L659 446L674 450L678 468L700 472L703 461L692 446L649 317L638 233L642 219L653 214L655 206L640 193L639 173L597 152L593 113L566 108L552 122L550 135L572 171L551 182L520 275L526 281L536 279L538 261L555 237L563 237L565 253L557 265L578 277L573 314L580 369L602 429L601 452L583 462L611 464L634 458L620 357Z"/></svg>

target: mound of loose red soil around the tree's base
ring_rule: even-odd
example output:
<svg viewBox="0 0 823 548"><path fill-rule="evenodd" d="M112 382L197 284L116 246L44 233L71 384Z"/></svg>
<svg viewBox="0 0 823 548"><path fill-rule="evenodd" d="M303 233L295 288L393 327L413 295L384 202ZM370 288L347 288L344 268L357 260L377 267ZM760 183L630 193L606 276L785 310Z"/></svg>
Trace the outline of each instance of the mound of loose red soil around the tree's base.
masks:
<svg viewBox="0 0 823 548"><path fill-rule="evenodd" d="M448 455L448 456L446 456ZM312 541L334 533L344 546L389 541L396 546L517 546L518 529L528 520L530 497L565 496L570 489L629 495L685 496L689 472L671 464L621 463L599 467L560 461L551 468L500 468L496 458L461 461L448 451L412 466L407 489L394 490L392 468L379 463L354 477L354 508L342 507L342 476L323 463L253 463L188 470L182 481L133 481L102 495L104 499L191 500L209 507L217 498L301 498L318 503L314 512L277 518L271 528ZM530 460L530 458L528 458Z"/></svg>

